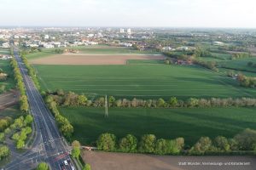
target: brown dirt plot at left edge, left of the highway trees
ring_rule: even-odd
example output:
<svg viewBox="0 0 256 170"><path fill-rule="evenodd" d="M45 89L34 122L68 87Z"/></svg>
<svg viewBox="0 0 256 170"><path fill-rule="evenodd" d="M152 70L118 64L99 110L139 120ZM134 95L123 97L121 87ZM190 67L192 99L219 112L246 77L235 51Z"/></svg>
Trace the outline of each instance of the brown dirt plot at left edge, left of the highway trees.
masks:
<svg viewBox="0 0 256 170"><path fill-rule="evenodd" d="M15 105L19 102L19 93L16 90L9 91L0 95L0 111Z"/></svg>

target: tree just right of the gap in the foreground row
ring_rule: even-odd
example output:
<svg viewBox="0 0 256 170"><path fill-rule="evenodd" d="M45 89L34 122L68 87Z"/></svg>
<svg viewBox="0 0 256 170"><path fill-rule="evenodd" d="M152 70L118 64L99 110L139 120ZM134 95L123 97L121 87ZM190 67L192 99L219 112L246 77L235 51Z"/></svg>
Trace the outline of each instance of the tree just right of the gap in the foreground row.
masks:
<svg viewBox="0 0 256 170"><path fill-rule="evenodd" d="M207 150L210 150L212 140L208 137L201 137L196 144L189 150L190 154L203 155Z"/></svg>

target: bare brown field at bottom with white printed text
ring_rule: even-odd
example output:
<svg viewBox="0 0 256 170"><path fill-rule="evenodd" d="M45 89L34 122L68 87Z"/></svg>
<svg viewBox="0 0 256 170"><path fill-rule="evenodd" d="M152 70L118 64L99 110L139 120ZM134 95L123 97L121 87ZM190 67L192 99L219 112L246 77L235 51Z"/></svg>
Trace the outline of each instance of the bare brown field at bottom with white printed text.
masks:
<svg viewBox="0 0 256 170"><path fill-rule="evenodd" d="M93 170L254 170L256 167L255 156L154 156L84 150L83 159Z"/></svg>

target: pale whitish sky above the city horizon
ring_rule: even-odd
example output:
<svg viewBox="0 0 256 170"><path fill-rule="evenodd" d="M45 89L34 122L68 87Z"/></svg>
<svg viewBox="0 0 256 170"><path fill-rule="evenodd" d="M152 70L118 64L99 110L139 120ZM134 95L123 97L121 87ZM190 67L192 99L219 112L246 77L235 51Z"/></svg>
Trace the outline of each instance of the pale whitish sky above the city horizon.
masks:
<svg viewBox="0 0 256 170"><path fill-rule="evenodd" d="M256 1L0 0L0 26L256 28Z"/></svg>

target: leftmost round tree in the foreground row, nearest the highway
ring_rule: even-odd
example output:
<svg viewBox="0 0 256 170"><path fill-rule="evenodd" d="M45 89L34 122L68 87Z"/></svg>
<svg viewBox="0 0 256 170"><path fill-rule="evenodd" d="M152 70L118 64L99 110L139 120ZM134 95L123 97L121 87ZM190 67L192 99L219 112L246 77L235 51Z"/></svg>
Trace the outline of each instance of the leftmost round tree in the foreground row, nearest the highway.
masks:
<svg viewBox="0 0 256 170"><path fill-rule="evenodd" d="M113 151L115 149L116 137L111 133L102 133L96 141L99 150Z"/></svg>

